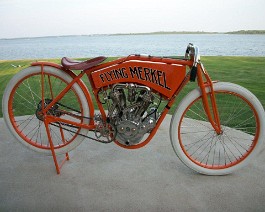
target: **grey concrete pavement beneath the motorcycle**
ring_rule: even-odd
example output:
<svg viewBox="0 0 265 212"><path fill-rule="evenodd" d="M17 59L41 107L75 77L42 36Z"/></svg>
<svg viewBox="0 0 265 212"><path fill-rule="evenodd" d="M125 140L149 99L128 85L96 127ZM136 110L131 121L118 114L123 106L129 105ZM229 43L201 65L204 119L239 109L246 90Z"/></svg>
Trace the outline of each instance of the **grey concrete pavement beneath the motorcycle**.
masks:
<svg viewBox="0 0 265 212"><path fill-rule="evenodd" d="M265 211L265 149L236 173L200 175L175 155L169 121L139 150L86 139L57 175L1 119L0 211Z"/></svg>

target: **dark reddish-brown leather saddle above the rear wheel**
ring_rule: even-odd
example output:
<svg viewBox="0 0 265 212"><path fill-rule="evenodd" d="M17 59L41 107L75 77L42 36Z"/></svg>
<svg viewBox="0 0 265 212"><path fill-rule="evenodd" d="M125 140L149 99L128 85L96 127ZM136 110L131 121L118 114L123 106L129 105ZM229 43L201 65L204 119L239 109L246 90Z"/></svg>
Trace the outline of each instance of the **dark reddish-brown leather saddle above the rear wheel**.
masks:
<svg viewBox="0 0 265 212"><path fill-rule="evenodd" d="M104 60L106 60L106 57L103 56L95 57L93 59L85 61L77 61L67 57L63 57L61 60L61 64L64 68L69 70L86 70L100 64Z"/></svg>

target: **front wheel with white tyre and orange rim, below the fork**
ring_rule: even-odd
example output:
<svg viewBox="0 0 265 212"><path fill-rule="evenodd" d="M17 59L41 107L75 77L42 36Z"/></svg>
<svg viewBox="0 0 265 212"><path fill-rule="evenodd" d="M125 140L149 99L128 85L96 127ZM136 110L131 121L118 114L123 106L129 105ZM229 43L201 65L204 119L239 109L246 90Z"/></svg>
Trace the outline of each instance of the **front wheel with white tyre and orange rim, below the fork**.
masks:
<svg viewBox="0 0 265 212"><path fill-rule="evenodd" d="M222 133L217 134L204 111L200 89L179 104L170 126L172 146L189 168L206 175L238 170L259 152L264 140L264 109L245 88L214 84ZM207 89L210 100L209 89Z"/></svg>

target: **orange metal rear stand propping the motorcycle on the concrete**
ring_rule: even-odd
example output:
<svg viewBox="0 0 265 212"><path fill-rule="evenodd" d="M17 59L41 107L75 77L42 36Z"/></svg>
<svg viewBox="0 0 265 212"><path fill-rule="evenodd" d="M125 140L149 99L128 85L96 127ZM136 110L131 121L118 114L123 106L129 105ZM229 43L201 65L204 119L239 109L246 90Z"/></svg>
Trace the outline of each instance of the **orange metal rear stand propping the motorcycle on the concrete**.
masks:
<svg viewBox="0 0 265 212"><path fill-rule="evenodd" d="M55 165L55 168L56 168L56 172L57 172L57 174L60 174L62 166L64 165L64 163L67 160L70 160L70 158L69 158L69 154L67 152L67 153L65 153L65 158L61 161L61 163L60 164L58 163L57 156L56 156L56 153L55 153L55 150L54 150L54 144L53 144L51 133L50 133L50 130L49 130L49 123L50 123L49 118L44 120L44 124L45 124L45 127L46 127L46 132L47 132L48 140L49 140L49 143L50 143L52 157L53 157L54 165ZM63 143L65 143L62 131L61 131L61 134L62 134Z"/></svg>

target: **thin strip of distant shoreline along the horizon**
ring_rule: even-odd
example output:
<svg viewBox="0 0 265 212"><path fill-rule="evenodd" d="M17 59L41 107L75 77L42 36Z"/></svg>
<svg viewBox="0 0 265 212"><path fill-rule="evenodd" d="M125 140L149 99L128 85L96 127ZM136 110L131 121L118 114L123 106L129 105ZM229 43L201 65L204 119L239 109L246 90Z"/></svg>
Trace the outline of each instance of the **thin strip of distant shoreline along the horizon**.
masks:
<svg viewBox="0 0 265 212"><path fill-rule="evenodd" d="M74 36L126 36L126 35L184 35L184 34L235 34L235 35L265 35L265 30L239 30L231 32L205 32L205 31L157 31L157 32L139 32L139 33L113 33L113 34L88 34L88 35L51 35L39 37L18 37L18 38L0 38L0 40L13 39L34 39L34 38L54 38L54 37L74 37Z"/></svg>

